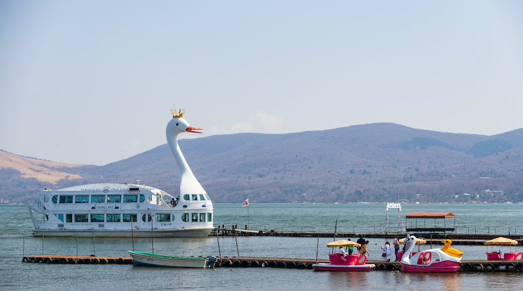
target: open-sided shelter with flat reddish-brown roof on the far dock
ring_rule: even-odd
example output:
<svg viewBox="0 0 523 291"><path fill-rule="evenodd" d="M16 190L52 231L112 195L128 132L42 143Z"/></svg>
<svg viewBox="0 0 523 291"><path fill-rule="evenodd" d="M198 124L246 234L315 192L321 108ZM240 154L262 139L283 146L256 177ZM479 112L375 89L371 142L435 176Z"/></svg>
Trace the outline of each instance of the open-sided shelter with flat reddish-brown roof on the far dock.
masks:
<svg viewBox="0 0 523 291"><path fill-rule="evenodd" d="M408 219L415 220L407 222ZM427 227L427 219L434 220L434 227ZM443 220L443 227L441 227L441 222L439 227L437 226L437 220ZM451 219L454 221L454 227L447 227L447 220ZM423 220L423 225L420 220ZM418 225L419 222L419 225ZM431 223L430 223L431 224ZM406 232L424 232L424 233L446 233L446 232L455 232L456 231L456 215L450 212L411 212L405 215L405 231Z"/></svg>

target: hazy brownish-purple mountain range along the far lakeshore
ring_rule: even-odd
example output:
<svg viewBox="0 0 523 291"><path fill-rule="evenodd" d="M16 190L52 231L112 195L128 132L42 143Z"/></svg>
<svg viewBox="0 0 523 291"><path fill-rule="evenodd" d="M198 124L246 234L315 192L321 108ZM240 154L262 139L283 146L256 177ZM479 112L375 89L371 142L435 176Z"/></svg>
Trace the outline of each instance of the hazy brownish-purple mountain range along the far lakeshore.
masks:
<svg viewBox="0 0 523 291"><path fill-rule="evenodd" d="M484 136L374 123L291 134L178 141L213 202L521 202L523 129ZM177 195L167 144L104 166L0 151L0 199L34 203L35 189L138 183Z"/></svg>

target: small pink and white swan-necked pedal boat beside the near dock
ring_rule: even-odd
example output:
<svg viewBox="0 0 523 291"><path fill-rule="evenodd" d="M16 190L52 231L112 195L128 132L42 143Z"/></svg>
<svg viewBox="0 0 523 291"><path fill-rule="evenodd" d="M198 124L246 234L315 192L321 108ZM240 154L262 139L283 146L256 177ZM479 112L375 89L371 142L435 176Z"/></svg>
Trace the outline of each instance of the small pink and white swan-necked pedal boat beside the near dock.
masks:
<svg viewBox="0 0 523 291"><path fill-rule="evenodd" d="M401 259L403 272L448 273L459 270L461 257L451 256L442 249L420 251L409 259L412 249L416 245L416 237L411 235L411 245Z"/></svg>

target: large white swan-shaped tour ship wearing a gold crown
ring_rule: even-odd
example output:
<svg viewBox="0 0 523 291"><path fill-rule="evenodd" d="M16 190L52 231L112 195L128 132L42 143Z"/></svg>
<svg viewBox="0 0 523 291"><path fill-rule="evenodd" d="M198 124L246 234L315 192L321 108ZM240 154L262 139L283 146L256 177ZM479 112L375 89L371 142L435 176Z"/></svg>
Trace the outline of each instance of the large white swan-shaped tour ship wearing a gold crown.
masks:
<svg viewBox="0 0 523 291"><path fill-rule="evenodd" d="M181 132L198 132L173 112L167 124L169 149L180 171L179 195L137 184L98 183L38 190L29 207L35 236L203 237L213 229L212 202L178 146Z"/></svg>

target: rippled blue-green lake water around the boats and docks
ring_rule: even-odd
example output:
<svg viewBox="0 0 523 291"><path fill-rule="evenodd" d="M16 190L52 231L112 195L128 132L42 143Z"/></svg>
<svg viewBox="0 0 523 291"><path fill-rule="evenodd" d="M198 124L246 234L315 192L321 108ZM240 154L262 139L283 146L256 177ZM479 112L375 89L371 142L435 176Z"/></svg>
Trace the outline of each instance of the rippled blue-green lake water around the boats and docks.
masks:
<svg viewBox="0 0 523 291"><path fill-rule="evenodd" d="M403 204L400 220L410 212L452 212L458 233L523 233L522 204ZM385 220L397 221L397 210L385 216L383 204L214 204L214 225L270 231L383 232ZM337 220L337 223L336 223ZM134 265L22 263L22 257L36 254L79 256L124 256L132 249L129 238L32 237L27 205L0 205L0 289L435 289L517 290L523 273L413 274L390 271L314 272L276 268L217 268L213 270L154 268ZM281 257L327 259L326 244L333 238L216 237L134 239L134 249L182 256ZM380 260L385 240L369 239L370 260ZM237 245L236 245L237 241ZM438 246L439 247L439 246ZM463 260L486 259L486 246L454 246L464 252ZM423 249L423 247L422 247ZM497 246L495 250L509 251ZM514 247L512 248L514 250ZM488 247L488 251L491 248Z"/></svg>

